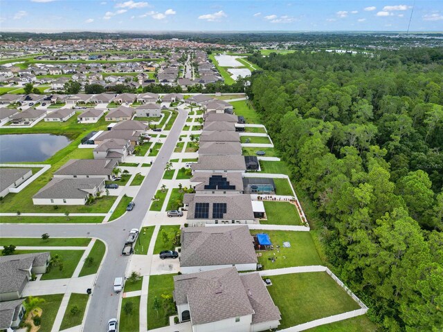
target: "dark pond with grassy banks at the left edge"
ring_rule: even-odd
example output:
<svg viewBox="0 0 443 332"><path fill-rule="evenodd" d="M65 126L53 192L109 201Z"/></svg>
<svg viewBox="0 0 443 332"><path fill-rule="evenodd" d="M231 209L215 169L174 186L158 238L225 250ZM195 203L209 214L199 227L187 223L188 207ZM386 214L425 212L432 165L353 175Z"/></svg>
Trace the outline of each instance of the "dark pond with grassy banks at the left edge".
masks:
<svg viewBox="0 0 443 332"><path fill-rule="evenodd" d="M0 135L0 163L44 161L70 142L66 136L51 133Z"/></svg>

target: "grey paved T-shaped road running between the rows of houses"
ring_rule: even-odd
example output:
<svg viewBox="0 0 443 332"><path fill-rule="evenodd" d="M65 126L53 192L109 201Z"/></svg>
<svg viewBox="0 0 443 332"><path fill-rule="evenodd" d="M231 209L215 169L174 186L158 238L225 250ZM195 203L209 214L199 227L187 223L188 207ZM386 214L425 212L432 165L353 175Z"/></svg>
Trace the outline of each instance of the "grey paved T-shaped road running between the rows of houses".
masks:
<svg viewBox="0 0 443 332"><path fill-rule="evenodd" d="M49 233L52 237L97 237L107 243L107 255L93 290L91 304L87 313L84 331L105 331L110 318L117 317L119 296L113 292L115 277L123 277L129 263L129 257L122 256L121 250L127 232L131 228L140 228L151 199L163 177L166 163L174 151L179 139L181 128L186 122L188 113L179 109L179 116L166 138L156 161L150 169L146 181L134 198L136 206L120 219L102 224L1 224L2 237L40 237ZM86 292L86 289L84 289ZM117 317L118 318L118 317Z"/></svg>

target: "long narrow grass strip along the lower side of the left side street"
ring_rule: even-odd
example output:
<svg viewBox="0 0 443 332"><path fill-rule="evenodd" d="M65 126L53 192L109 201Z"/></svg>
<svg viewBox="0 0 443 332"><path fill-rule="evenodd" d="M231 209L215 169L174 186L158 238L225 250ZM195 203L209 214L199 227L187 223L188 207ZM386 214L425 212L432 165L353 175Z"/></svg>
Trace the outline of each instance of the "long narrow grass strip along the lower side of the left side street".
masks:
<svg viewBox="0 0 443 332"><path fill-rule="evenodd" d="M40 237L1 237L0 238L0 246L9 246L13 244L14 246L46 246L46 247L66 247L66 246L78 246L78 247L86 247L88 246L91 239L86 239L84 237L52 237L47 240L42 240Z"/></svg>

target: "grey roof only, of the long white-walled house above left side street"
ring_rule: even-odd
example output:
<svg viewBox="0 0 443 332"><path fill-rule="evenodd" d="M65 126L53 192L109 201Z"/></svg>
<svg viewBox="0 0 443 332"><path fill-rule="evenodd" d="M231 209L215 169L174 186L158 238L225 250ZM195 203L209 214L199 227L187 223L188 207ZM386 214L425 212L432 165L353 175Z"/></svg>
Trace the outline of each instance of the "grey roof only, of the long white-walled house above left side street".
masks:
<svg viewBox="0 0 443 332"><path fill-rule="evenodd" d="M86 190L93 190L103 181L103 178L53 178L33 199L83 199Z"/></svg>

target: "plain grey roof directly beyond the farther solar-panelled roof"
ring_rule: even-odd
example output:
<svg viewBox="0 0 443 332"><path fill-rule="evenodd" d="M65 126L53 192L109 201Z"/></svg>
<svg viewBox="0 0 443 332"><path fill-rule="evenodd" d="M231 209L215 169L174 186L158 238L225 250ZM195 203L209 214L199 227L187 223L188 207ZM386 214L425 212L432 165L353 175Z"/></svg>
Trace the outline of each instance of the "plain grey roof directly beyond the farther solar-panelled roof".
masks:
<svg viewBox="0 0 443 332"><path fill-rule="evenodd" d="M199 156L199 162L191 165L192 170L217 171L246 171L243 156Z"/></svg>

